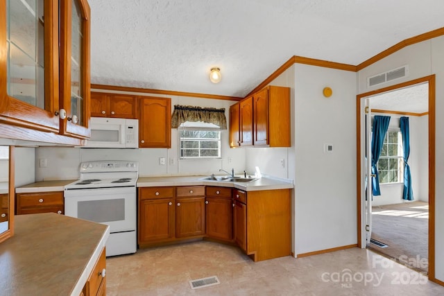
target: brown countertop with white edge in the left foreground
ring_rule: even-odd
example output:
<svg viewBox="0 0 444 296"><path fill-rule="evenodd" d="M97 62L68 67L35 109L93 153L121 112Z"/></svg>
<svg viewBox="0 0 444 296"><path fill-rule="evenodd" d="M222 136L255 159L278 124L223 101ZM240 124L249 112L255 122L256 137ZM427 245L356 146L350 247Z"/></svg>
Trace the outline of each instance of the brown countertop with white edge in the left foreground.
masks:
<svg viewBox="0 0 444 296"><path fill-rule="evenodd" d="M108 225L53 213L14 221L14 236L0 244L2 295L80 295L105 247Z"/></svg>

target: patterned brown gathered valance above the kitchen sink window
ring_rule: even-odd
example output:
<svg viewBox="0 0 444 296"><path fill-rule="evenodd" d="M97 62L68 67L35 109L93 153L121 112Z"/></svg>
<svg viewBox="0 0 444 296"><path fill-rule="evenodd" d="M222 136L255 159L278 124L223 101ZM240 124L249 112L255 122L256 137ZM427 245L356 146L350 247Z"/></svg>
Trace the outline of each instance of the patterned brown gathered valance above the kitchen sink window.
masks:
<svg viewBox="0 0 444 296"><path fill-rule="evenodd" d="M193 106L175 105L173 116L171 116L171 128L178 128L181 123L186 121L213 123L218 125L221 130L227 129L227 119L225 118L225 108L203 108Z"/></svg>

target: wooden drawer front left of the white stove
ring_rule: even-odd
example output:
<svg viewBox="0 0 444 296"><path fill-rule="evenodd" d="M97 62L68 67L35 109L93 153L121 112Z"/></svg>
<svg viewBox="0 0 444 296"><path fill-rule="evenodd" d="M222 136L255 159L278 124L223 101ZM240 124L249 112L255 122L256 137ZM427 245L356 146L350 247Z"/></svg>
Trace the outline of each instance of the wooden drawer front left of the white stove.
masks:
<svg viewBox="0 0 444 296"><path fill-rule="evenodd" d="M15 214L65 214L63 191L16 193Z"/></svg>

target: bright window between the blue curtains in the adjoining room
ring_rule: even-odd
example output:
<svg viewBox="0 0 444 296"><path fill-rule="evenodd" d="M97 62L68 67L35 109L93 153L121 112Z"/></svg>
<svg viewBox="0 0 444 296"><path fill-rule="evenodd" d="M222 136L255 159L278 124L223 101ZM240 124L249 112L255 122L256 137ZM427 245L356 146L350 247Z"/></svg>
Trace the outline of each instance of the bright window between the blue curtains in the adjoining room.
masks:
<svg viewBox="0 0 444 296"><path fill-rule="evenodd" d="M377 162L380 184L404 181L404 158L402 155L401 132L388 130L382 144L381 156Z"/></svg>

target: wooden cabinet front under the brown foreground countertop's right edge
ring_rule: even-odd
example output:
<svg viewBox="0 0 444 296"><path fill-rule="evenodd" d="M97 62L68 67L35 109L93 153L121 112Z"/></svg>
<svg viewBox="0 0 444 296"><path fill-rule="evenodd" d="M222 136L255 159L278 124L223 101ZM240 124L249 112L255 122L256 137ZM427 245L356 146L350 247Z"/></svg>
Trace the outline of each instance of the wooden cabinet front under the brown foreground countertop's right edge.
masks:
<svg viewBox="0 0 444 296"><path fill-rule="evenodd" d="M84 296L105 296L106 295L106 257L105 248L103 248L96 265L89 275L88 280L83 287L81 295Z"/></svg>

